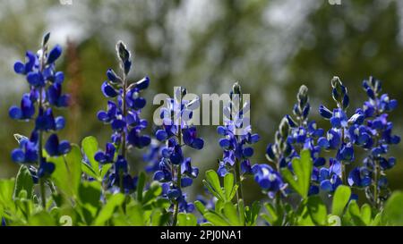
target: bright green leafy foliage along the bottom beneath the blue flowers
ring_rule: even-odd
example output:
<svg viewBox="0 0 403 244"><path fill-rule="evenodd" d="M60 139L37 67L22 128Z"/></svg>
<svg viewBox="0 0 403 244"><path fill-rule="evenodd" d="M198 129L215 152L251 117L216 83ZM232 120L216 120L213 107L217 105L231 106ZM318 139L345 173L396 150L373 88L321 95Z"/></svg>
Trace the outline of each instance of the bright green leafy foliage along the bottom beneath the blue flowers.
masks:
<svg viewBox="0 0 403 244"><path fill-rule="evenodd" d="M80 147L73 145L65 156L50 157L48 162L56 164L56 171L47 179L51 189L47 206L39 205L34 182L27 166L22 165L15 180L0 180L0 216L7 225L168 225L172 214L171 204L161 198L162 188L158 181L149 182L149 176L138 174L137 189L130 195L112 194L103 189L101 169L82 163L81 152L86 156L95 154L98 143L86 138ZM85 147L85 149L84 149ZM89 161L91 159L89 157ZM289 185L300 195L299 203L292 206L279 194L273 201L261 205L255 201L244 205L243 199L236 199L238 185L234 174L228 172L222 179L217 172L205 173L204 186L217 198L212 208L200 201L194 203L197 211L206 220L201 225L210 226L253 226L261 220L272 226L373 226L403 225L401 206L403 193L395 192L382 211L368 204L359 206L351 200L351 189L341 185L334 192L330 210L320 195L308 196L313 163L309 151L303 151L301 158L292 162L294 172L284 170ZM84 181L82 172L94 175L96 181ZM97 180L98 179L98 180ZM263 209L261 209L263 206ZM196 226L198 220L192 213L180 213L179 226Z"/></svg>

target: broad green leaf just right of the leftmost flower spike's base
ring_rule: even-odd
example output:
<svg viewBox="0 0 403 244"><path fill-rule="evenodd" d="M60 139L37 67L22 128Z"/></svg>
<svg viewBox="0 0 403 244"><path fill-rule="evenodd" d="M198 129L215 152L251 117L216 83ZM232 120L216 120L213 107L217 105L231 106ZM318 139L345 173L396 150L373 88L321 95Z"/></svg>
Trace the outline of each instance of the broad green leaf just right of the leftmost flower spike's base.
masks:
<svg viewBox="0 0 403 244"><path fill-rule="evenodd" d="M77 196L81 181L81 151L77 145L66 156L48 157L55 164L52 180L69 197Z"/></svg>

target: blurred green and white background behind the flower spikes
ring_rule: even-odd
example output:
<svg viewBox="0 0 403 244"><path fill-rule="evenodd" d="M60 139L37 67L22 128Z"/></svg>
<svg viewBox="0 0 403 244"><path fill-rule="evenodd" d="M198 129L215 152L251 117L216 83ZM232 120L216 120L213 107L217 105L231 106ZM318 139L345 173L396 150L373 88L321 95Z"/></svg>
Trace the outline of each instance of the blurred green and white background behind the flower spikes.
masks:
<svg viewBox="0 0 403 244"><path fill-rule="evenodd" d="M198 95L221 94L239 81L244 93L251 94L253 130L262 136L255 145L253 163L266 162L265 147L273 141L282 116L291 114L302 84L310 89L315 120L321 103L334 106L330 97L334 75L347 86L350 107L364 102L361 83L369 75L383 81L390 97L403 101L403 1L341 0L341 5L327 0L63 2L69 1L1 1L0 178L12 177L18 169L10 159L10 151L17 147L13 133L28 135L32 128L8 118L8 107L19 104L27 90L24 78L13 72L13 63L24 58L25 50L36 51L47 31L52 33L52 45L64 46L58 66L66 74L64 88L72 93L73 106L60 112L68 115L61 137L74 143L95 135L103 147L109 138L109 127L98 122L96 114L107 104L100 85L107 68L116 67L119 39L134 55L130 79L150 76L143 113L148 119L158 107L152 105L157 93L172 94L174 86L182 85ZM399 135L401 107L390 116ZM319 124L329 129L328 122ZM201 168L193 188L201 189L206 169L217 168L221 150L215 131L214 126L201 127L206 147L185 152ZM402 145L390 150L398 158L397 166L388 172L392 189L403 189ZM142 153L132 153L133 172L145 165ZM264 197L253 179L244 188L247 201Z"/></svg>

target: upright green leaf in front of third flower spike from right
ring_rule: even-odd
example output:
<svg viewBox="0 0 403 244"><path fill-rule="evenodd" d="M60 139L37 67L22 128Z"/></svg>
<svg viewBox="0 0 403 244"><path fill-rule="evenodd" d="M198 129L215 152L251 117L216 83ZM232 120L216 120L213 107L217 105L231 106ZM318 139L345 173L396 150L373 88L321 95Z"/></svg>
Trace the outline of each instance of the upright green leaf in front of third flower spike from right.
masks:
<svg viewBox="0 0 403 244"><path fill-rule="evenodd" d="M295 189L302 198L307 198L313 171L313 161L310 151L303 150L301 157L294 158L291 164L293 166L294 175L287 167L281 169L281 173L290 186Z"/></svg>

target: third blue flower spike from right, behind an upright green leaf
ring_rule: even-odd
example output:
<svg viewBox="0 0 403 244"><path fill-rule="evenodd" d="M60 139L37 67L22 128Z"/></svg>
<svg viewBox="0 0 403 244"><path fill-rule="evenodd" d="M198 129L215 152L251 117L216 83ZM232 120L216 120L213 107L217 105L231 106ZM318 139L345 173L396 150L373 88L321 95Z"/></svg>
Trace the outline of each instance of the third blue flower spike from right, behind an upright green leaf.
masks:
<svg viewBox="0 0 403 244"><path fill-rule="evenodd" d="M267 164L262 169L256 169L255 180L259 182L262 189L268 191L269 197L273 198L275 193L281 190L285 193L287 185L281 180L279 171L283 167L292 170L291 161L294 157L299 157L299 150L309 149L313 158L313 176L309 194L319 192L318 188L318 167L326 163L321 157L321 147L316 144L323 130L318 129L316 122L309 121L308 115L311 110L309 104L308 88L304 85L299 88L296 95L297 103L294 105L293 114L295 118L286 115L279 124L279 130L275 134L275 143L269 144L266 149L266 157L276 165L276 170ZM264 172L264 173L263 173ZM263 177L262 175L266 175ZM264 179L265 181L262 181ZM269 181L271 183L269 185ZM266 186L265 186L266 185Z"/></svg>

